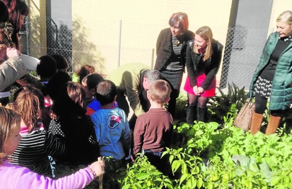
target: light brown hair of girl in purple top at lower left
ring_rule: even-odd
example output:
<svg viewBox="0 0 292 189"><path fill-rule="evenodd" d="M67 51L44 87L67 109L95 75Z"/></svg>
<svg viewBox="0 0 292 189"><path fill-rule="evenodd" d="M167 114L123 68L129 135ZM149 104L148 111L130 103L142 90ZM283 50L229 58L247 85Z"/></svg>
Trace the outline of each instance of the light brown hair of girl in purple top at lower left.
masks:
<svg viewBox="0 0 292 189"><path fill-rule="evenodd" d="M4 144L8 137L19 127L21 115L15 111L0 106L0 163L7 160Z"/></svg>

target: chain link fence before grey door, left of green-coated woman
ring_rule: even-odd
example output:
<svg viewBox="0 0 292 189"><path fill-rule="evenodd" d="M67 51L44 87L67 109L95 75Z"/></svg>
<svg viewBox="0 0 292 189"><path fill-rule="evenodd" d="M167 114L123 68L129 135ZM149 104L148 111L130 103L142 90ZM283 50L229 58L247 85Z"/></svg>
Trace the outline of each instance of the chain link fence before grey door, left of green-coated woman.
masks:
<svg viewBox="0 0 292 189"><path fill-rule="evenodd" d="M225 88L232 82L239 87L249 88L266 40L266 29L243 27L228 29L223 52L220 88Z"/></svg>

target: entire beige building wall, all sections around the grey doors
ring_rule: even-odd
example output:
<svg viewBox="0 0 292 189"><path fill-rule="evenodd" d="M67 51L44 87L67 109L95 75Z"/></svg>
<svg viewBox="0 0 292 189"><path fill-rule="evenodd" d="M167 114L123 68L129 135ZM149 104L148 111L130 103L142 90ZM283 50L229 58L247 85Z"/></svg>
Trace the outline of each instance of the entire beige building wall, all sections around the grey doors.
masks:
<svg viewBox="0 0 292 189"><path fill-rule="evenodd" d="M46 1L26 2L30 7L30 55L40 57L46 54ZM188 14L192 31L210 26L214 38L225 45L231 4L232 0L72 0L74 69L91 64L99 73L107 74L117 68L120 22L120 65L139 61L152 66L159 31L169 27L174 12ZM278 15L290 7L290 0L273 1L268 34L275 31Z"/></svg>

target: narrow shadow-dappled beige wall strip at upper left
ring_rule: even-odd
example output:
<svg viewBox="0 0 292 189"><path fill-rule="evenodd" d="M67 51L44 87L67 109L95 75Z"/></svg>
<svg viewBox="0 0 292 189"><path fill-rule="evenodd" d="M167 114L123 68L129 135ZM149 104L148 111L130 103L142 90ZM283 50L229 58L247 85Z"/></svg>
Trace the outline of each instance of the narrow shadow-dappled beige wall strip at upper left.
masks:
<svg viewBox="0 0 292 189"><path fill-rule="evenodd" d="M46 0L26 1L29 7L29 52L39 58L47 53L46 47Z"/></svg>

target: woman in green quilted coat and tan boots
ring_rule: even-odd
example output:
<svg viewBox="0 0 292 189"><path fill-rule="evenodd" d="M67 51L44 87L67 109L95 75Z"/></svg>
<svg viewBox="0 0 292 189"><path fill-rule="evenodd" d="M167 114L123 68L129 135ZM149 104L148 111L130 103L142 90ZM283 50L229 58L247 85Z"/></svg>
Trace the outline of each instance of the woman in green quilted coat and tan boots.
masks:
<svg viewBox="0 0 292 189"><path fill-rule="evenodd" d="M268 98L271 111L266 134L276 132L281 117L292 102L292 11L277 18L277 31L269 36L250 84L249 97L255 96L255 113L250 132L261 128Z"/></svg>

